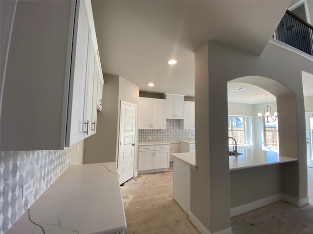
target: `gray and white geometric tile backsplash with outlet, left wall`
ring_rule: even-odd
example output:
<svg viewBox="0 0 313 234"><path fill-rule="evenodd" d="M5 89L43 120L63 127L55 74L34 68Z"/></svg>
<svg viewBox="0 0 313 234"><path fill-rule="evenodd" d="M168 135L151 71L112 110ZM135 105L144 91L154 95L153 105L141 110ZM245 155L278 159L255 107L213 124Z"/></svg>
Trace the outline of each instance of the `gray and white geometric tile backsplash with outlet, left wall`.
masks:
<svg viewBox="0 0 313 234"><path fill-rule="evenodd" d="M0 152L0 234L4 234L68 168L65 150ZM33 179L33 191L22 198L22 185Z"/></svg>

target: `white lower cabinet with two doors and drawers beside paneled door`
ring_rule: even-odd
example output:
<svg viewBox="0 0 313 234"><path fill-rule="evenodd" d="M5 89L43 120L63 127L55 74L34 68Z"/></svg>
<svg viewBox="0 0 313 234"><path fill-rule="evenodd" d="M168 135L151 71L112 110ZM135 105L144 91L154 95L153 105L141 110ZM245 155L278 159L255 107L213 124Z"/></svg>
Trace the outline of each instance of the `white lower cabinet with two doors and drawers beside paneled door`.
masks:
<svg viewBox="0 0 313 234"><path fill-rule="evenodd" d="M167 171L169 166L169 144L138 147L138 174Z"/></svg>

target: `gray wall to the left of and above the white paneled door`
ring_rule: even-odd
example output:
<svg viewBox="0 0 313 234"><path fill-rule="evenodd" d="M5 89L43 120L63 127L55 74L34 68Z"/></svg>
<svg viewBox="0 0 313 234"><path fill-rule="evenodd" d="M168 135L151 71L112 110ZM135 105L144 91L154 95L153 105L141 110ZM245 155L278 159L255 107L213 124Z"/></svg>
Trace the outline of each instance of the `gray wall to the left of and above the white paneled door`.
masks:
<svg viewBox="0 0 313 234"><path fill-rule="evenodd" d="M117 162L120 101L138 105L139 87L122 77L105 74L102 100L102 111L97 115L97 132L84 142L84 164ZM135 138L137 140L137 136Z"/></svg>

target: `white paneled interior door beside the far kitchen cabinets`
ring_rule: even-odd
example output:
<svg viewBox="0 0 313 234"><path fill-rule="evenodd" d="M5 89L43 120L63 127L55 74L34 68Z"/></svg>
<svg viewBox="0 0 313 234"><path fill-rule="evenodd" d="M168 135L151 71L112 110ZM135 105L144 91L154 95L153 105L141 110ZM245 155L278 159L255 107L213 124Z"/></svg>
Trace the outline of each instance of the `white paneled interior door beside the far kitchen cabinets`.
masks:
<svg viewBox="0 0 313 234"><path fill-rule="evenodd" d="M136 105L121 101L118 176L122 184L134 176Z"/></svg>

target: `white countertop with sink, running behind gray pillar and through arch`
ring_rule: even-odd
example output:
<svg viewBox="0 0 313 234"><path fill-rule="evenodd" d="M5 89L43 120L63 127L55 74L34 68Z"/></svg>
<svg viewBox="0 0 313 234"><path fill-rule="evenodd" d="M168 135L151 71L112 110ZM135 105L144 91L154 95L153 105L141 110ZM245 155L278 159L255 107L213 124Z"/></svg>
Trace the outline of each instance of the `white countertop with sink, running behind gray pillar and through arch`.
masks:
<svg viewBox="0 0 313 234"><path fill-rule="evenodd" d="M240 170L245 168L252 167L260 167L271 164L278 164L284 162L292 162L297 161L297 158L281 156L274 152L257 150L257 149L240 149L239 153L243 153L243 155L229 156L229 170ZM171 154L174 157L179 158L180 160L188 163L193 167L197 167L196 165L196 153L188 152L188 153L175 153ZM175 159L174 159L175 160ZM175 161L174 161L175 163Z"/></svg>

